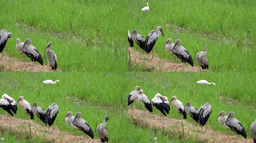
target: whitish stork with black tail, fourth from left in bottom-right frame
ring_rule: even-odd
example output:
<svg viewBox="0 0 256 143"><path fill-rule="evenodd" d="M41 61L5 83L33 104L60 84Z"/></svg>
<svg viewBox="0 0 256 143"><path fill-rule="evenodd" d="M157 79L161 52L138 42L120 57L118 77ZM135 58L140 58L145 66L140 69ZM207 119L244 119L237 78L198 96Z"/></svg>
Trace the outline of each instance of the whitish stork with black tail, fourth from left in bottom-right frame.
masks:
<svg viewBox="0 0 256 143"><path fill-rule="evenodd" d="M176 111L178 113L178 115L177 115L178 123L179 123L179 114L182 115L183 119L187 118L187 113L185 111L184 105L182 104L182 102L177 100L176 96L173 96L171 98L170 103L173 105L173 107L176 109Z"/></svg>

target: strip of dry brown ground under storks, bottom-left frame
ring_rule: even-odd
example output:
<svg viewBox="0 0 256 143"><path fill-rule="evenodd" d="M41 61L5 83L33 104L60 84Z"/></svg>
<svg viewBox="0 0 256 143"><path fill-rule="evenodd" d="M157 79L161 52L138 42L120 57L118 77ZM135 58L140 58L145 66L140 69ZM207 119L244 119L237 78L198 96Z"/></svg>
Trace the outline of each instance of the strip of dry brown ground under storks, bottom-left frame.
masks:
<svg viewBox="0 0 256 143"><path fill-rule="evenodd" d="M4 118L4 120L3 120ZM43 123L41 124L35 123L34 121L25 121L22 119L18 119L15 117L11 117L10 121L7 120L6 115L0 115L0 128L9 128L11 130L18 131L20 133L25 133L30 131L29 123L31 128L31 135L37 137L45 137L49 139L49 141L54 141L55 143L99 143L99 139L91 139L85 138L84 136L76 136L74 134L67 133L65 131L60 131L56 126L54 127L54 131L52 131L52 126L50 127L50 131L48 131L48 127L45 127ZM87 136L87 135L85 135Z"/></svg>

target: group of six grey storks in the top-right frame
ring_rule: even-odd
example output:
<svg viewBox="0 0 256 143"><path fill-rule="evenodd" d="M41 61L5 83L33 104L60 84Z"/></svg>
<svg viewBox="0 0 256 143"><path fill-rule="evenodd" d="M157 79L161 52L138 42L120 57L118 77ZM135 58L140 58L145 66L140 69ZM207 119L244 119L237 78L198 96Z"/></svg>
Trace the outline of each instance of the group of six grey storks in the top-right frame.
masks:
<svg viewBox="0 0 256 143"><path fill-rule="evenodd" d="M149 53L152 51L152 59L153 59L153 47L156 44L156 41L160 35L164 36L164 32L162 31L162 27L158 26L156 28L156 31L151 31L149 35L147 35L146 39L138 34L138 31L136 29L133 30L133 33L128 30L128 43L129 47L133 47L135 41L137 45L148 54L149 58ZM181 40L177 39L175 44L172 43L172 39L168 38L167 42L165 44L165 50L171 52L171 55L174 55L174 66L175 66L175 57L179 58L182 63L184 63L183 67L185 66L185 63L189 63L191 66L193 66L193 58L191 54L189 54L188 50L184 48L181 44ZM208 59L205 57L207 53L207 46L204 46L204 51L201 51L196 54L196 61L199 65L200 71L201 68L203 70L208 69Z"/></svg>

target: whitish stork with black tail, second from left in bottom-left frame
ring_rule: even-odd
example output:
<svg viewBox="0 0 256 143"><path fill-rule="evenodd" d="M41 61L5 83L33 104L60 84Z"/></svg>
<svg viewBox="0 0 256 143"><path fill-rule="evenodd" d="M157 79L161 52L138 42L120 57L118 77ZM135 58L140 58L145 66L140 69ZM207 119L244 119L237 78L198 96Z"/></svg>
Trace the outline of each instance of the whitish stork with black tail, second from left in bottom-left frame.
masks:
<svg viewBox="0 0 256 143"><path fill-rule="evenodd" d="M30 116L29 119L34 119L34 113L32 112L32 108L30 104L26 100L24 100L24 97L20 96L17 102L18 102L18 105L21 106L21 108L25 113L25 123L26 123L27 114Z"/></svg>

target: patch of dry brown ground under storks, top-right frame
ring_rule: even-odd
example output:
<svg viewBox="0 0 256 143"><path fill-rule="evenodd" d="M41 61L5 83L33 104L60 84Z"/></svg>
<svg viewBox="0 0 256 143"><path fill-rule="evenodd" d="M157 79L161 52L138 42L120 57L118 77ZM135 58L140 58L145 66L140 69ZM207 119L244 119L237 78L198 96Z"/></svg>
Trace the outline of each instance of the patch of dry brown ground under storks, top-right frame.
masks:
<svg viewBox="0 0 256 143"><path fill-rule="evenodd" d="M131 63L131 69L132 66L135 65L144 65L147 69L150 69L150 71L200 71L198 66L191 67L186 64L185 67L183 67L183 64L181 63L176 63L174 66L174 63L159 58L155 53L152 60L151 54L149 58L147 58L147 54L136 51L130 47L128 48L128 52L128 60Z"/></svg>

